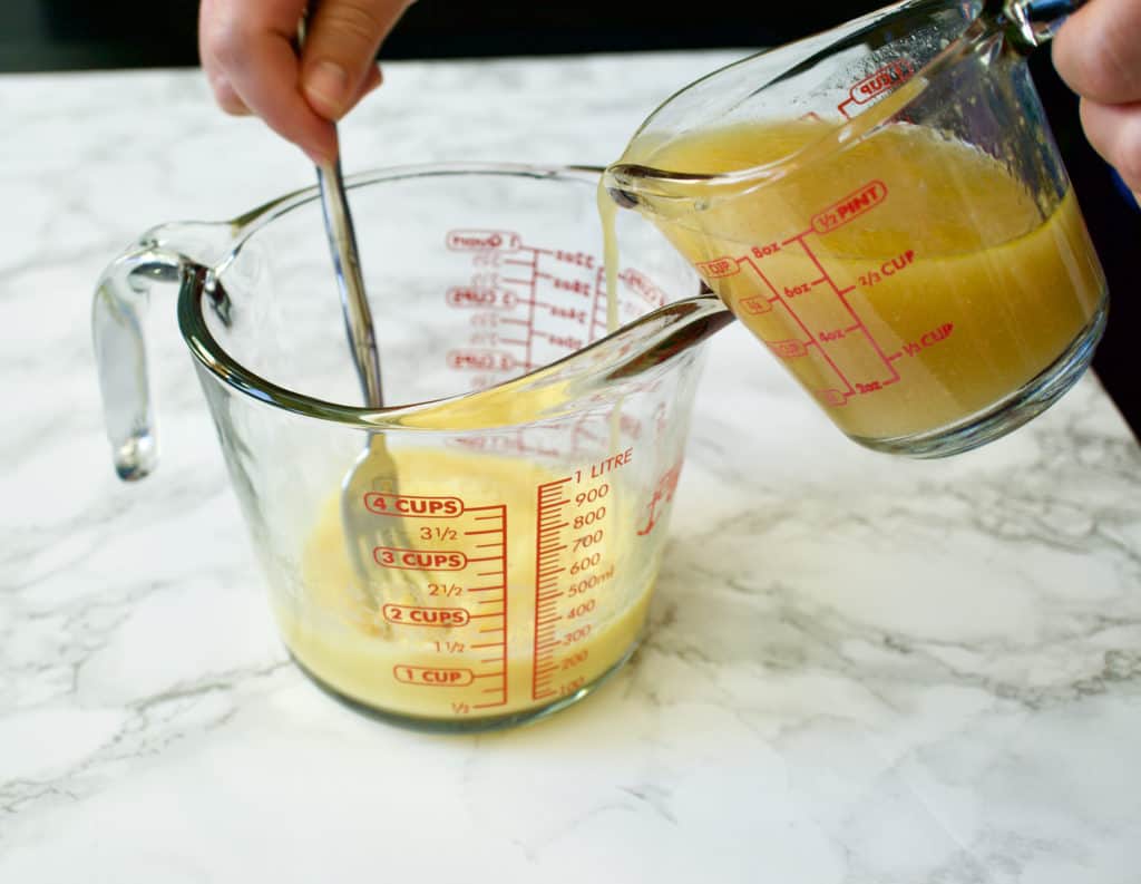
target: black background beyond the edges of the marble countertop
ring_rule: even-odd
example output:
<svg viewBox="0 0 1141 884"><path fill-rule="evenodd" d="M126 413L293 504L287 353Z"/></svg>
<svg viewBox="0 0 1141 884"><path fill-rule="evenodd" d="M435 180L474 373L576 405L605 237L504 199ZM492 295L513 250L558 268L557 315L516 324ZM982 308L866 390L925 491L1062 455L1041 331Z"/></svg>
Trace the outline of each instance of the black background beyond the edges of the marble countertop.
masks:
<svg viewBox="0 0 1141 884"><path fill-rule="evenodd" d="M427 59L759 48L839 24L883 2L420 0L381 55ZM197 0L0 0L0 73L197 66ZM1134 303L1136 287L1127 265L1141 250L1141 211L1085 142L1077 99L1058 79L1050 53L1036 53L1030 70L1109 278L1109 329L1094 370L1141 437L1141 383L1128 340L1141 310Z"/></svg>

